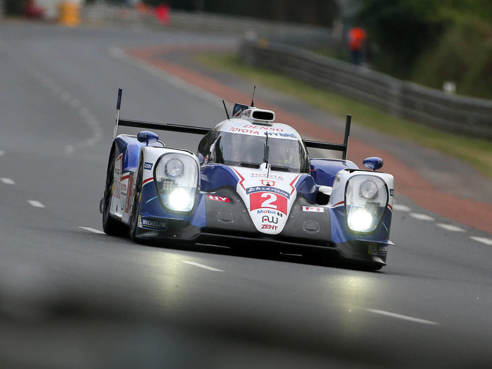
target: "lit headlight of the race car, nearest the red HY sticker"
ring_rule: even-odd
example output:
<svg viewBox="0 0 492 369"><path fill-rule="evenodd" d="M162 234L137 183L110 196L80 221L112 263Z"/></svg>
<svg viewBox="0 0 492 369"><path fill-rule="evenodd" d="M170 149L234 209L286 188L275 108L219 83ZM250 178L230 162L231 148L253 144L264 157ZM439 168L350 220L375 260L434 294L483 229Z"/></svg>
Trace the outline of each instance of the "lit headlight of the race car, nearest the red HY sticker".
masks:
<svg viewBox="0 0 492 369"><path fill-rule="evenodd" d="M190 155L164 154L155 165L154 183L164 209L189 212L195 205L198 191L198 163Z"/></svg>

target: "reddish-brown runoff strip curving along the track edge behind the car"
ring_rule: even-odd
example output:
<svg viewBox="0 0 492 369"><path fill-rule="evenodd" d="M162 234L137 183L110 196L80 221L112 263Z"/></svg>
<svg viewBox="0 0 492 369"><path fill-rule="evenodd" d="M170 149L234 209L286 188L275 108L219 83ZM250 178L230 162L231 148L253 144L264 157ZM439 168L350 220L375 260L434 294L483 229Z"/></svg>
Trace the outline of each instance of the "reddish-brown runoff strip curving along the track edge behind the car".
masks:
<svg viewBox="0 0 492 369"><path fill-rule="evenodd" d="M187 46L189 51L204 50L203 45L200 47ZM112 48L111 53L119 58L126 58L136 65L147 69L151 73L158 73L160 70L166 80L172 80L181 87L193 90L195 94L201 94L208 101L220 103L221 97L227 97L230 103L245 102L251 99L251 96L245 94L229 85L223 84L220 80L197 73L194 70L177 65L166 60L162 60L159 55L175 52L177 50L185 51L184 47L166 46L166 47L146 47L132 49ZM210 50L210 49L207 49ZM215 96L215 97L214 97ZM326 127L313 124L303 118L296 116L294 113L282 109L275 105L262 104L262 108L273 110L276 113L277 120L289 122L293 127L302 127L299 131L306 136L316 137L316 139L327 142L342 142L343 136ZM424 178L416 169L402 162L399 158L390 152L376 146L368 145L364 141L351 137L349 143L349 157L354 162L361 162L367 156L367 153L379 156L384 159L384 171L391 173L395 177L395 191L400 193L417 205L439 214L452 221L464 224L492 234L492 204L480 202L477 200L463 199L454 194L440 191L440 189ZM430 219L432 217L428 216ZM422 219L422 220L430 220ZM450 225L440 225L449 231L457 231ZM446 228L447 227L447 228ZM453 229L451 229L453 228ZM459 228L459 227L456 227Z"/></svg>

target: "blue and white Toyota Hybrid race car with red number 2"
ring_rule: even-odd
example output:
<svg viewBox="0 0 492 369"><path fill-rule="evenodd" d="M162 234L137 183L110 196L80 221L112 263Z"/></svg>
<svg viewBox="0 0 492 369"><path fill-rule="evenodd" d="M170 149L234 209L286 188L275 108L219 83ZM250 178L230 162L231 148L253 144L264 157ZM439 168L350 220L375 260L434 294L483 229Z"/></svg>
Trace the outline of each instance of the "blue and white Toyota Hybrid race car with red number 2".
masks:
<svg viewBox="0 0 492 369"><path fill-rule="evenodd" d="M302 139L275 113L235 104L214 128L120 119L101 199L104 232L134 241L255 249L378 270L386 265L393 176L369 157L360 169L343 144ZM224 104L225 108L225 104ZM145 129L118 133L119 126ZM197 153L149 130L202 135ZM342 151L309 158L307 148Z"/></svg>

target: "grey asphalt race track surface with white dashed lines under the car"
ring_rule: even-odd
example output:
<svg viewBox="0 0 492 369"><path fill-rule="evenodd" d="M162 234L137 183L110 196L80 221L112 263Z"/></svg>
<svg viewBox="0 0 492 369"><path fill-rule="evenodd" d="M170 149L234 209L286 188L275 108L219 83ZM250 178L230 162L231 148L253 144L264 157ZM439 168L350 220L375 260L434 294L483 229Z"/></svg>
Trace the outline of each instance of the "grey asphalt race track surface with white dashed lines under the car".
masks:
<svg viewBox="0 0 492 369"><path fill-rule="evenodd" d="M97 232L119 86L125 118L211 127L224 114L115 48L236 43L0 24L0 366L491 367L490 234L407 198L380 272Z"/></svg>

